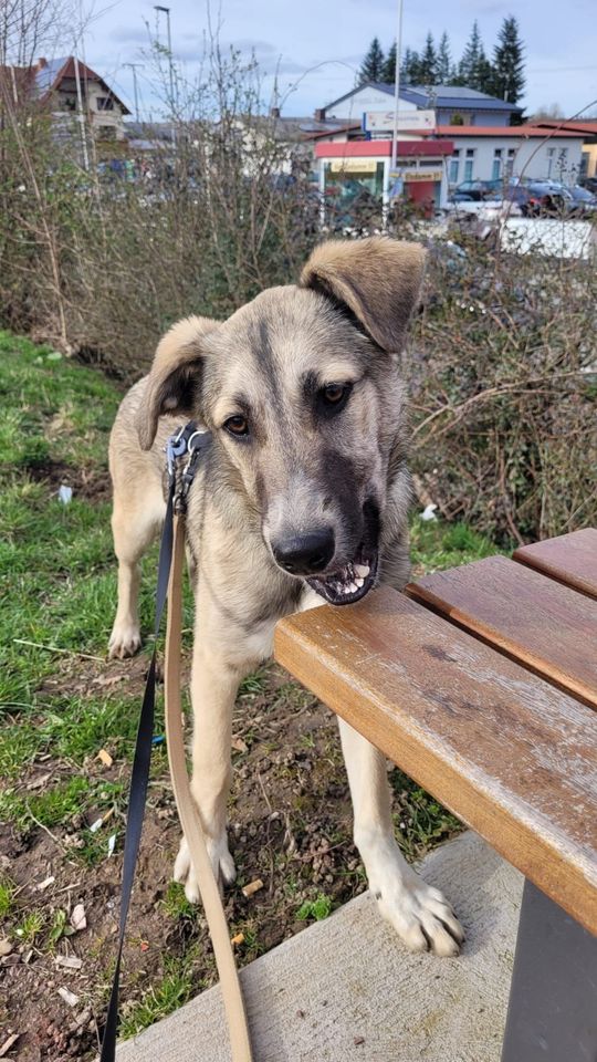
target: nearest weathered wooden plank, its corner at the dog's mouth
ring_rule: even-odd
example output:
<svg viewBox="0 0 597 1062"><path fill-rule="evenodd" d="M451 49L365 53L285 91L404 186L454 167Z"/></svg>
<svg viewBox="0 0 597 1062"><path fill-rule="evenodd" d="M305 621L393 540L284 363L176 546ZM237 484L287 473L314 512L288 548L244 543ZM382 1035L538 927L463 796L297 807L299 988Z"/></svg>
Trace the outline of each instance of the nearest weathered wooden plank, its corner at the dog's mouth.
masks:
<svg viewBox="0 0 597 1062"><path fill-rule="evenodd" d="M387 587L283 620L275 656L597 933L597 716Z"/></svg>

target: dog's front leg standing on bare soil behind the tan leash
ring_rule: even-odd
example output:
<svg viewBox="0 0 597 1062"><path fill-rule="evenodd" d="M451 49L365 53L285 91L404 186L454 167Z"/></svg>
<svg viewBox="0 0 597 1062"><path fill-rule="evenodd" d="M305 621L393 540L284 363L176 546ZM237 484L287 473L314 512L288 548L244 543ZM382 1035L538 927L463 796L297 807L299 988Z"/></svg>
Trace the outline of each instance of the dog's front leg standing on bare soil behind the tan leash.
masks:
<svg viewBox="0 0 597 1062"><path fill-rule="evenodd" d="M230 664L212 645L197 639L191 676L193 709L191 791L197 802L213 873L221 884L234 879L234 863L226 832L227 800L231 779L230 748L232 708L240 680L249 667ZM175 863L175 879L185 882L191 903L199 886L182 839Z"/></svg>

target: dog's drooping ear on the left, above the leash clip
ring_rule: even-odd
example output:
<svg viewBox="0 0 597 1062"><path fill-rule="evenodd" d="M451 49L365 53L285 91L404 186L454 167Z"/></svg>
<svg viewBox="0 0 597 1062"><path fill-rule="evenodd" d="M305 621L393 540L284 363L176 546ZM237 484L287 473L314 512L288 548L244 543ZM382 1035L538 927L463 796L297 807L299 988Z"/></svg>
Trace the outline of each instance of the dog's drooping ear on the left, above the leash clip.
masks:
<svg viewBox="0 0 597 1062"><path fill-rule="evenodd" d="M218 327L209 317L185 317L159 341L137 414L142 449L150 449L163 414L191 417L197 412L202 375L202 340Z"/></svg>

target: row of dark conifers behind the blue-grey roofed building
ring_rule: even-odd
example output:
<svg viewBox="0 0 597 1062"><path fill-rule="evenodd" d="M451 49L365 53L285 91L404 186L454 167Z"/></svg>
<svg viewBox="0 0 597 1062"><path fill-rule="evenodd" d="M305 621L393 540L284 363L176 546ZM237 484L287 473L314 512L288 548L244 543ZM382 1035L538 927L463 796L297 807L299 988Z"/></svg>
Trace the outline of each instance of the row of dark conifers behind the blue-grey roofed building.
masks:
<svg viewBox="0 0 597 1062"><path fill-rule="evenodd" d="M396 79L396 42L384 53L375 37L358 73L358 83L377 81L394 84ZM524 44L514 15L505 18L490 59L485 52L479 23L473 22L471 35L460 60L452 59L446 31L436 42L428 32L421 52L406 48L400 63L404 85L464 85L490 96L517 103L524 92Z"/></svg>

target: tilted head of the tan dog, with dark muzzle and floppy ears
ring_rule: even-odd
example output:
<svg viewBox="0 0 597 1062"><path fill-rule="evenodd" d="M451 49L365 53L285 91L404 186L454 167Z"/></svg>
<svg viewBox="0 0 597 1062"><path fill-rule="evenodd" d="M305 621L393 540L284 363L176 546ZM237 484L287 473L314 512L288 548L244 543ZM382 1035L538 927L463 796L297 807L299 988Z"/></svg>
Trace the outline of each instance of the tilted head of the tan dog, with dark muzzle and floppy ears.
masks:
<svg viewBox="0 0 597 1062"><path fill-rule="evenodd" d="M276 564L332 604L375 583L404 433L398 354L423 261L419 244L383 237L323 243L297 287L271 288L221 324L175 325L149 375L142 446L165 413L205 423Z"/></svg>

